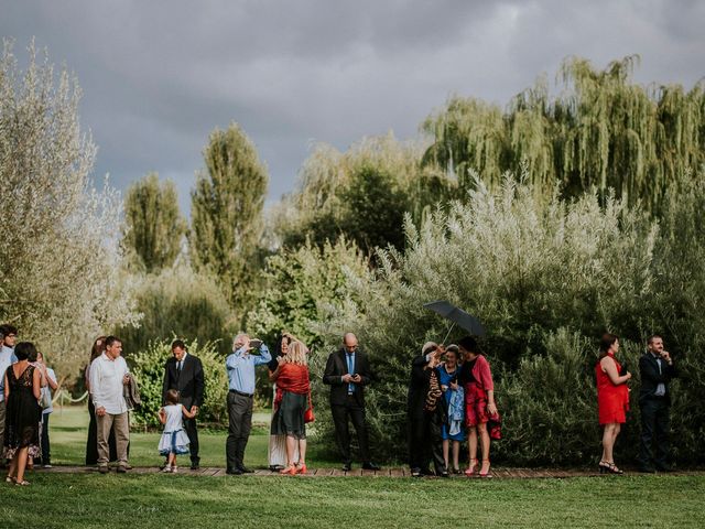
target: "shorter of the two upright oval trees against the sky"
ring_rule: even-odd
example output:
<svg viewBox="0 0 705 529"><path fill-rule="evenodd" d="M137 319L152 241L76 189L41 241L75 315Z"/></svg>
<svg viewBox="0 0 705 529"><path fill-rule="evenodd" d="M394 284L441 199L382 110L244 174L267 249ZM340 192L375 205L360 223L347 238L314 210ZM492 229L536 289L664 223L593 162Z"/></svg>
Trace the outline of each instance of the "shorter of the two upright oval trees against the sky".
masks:
<svg viewBox="0 0 705 529"><path fill-rule="evenodd" d="M128 190L122 244L148 272L171 267L178 256L186 222L178 210L176 186L149 173Z"/></svg>

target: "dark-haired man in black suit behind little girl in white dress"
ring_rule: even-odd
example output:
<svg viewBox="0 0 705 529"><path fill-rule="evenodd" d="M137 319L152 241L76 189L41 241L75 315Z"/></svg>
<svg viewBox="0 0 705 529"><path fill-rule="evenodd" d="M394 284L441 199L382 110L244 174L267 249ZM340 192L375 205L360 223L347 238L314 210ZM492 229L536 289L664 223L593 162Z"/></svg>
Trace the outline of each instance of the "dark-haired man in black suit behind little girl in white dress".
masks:
<svg viewBox="0 0 705 529"><path fill-rule="evenodd" d="M192 412L197 412L203 404L203 365L200 360L189 355L186 344L181 339L172 343L172 357L164 366L164 387L162 392L163 404L166 403L166 391L175 389L178 391L178 401ZM197 471L200 464L198 456L198 429L196 418L186 419L184 417L184 430L188 435L188 447L191 451L191 469Z"/></svg>

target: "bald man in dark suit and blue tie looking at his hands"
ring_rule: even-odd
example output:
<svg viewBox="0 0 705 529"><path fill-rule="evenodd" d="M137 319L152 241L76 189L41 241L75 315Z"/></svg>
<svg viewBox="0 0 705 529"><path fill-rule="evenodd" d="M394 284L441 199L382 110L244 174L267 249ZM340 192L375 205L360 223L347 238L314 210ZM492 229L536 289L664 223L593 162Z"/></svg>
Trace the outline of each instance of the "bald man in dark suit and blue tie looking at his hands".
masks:
<svg viewBox="0 0 705 529"><path fill-rule="evenodd" d="M328 356L323 384L330 386L330 412L343 455L343 469L352 467L349 419L357 432L362 468L378 471L379 466L370 461L365 422L365 386L370 382L370 365L367 355L357 345L357 337L352 333L343 337L343 347Z"/></svg>

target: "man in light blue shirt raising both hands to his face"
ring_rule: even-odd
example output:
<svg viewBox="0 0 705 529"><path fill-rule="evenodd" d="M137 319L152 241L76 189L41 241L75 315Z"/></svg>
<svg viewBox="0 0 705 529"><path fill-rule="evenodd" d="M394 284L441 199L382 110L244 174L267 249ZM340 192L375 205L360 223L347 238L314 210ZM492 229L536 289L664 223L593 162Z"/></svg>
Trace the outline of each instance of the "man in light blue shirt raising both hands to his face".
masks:
<svg viewBox="0 0 705 529"><path fill-rule="evenodd" d="M256 353L259 349L259 354ZM225 360L228 374L228 440L225 445L226 473L240 475L250 473L243 464L245 447L252 428L252 402L254 396L254 367L267 364L272 355L258 341L250 344L247 334L238 334L232 342L232 354Z"/></svg>

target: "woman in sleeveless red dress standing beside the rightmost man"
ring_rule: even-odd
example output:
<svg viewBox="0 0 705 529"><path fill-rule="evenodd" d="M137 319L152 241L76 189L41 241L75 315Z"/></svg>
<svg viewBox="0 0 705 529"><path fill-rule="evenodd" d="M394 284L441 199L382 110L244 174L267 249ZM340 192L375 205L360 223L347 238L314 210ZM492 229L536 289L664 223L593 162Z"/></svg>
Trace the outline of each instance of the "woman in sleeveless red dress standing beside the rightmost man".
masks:
<svg viewBox="0 0 705 529"><path fill-rule="evenodd" d="M595 365L595 377L597 379L597 409L599 424L603 431L603 458L599 462L599 472L623 474L615 465L612 449L615 441L621 429L621 424L627 422L627 410L629 410L629 389L627 381L631 378L631 373L620 375L621 365L615 358L619 350L619 338L614 334L603 335L599 346L599 361Z"/></svg>

